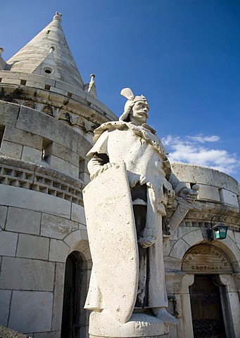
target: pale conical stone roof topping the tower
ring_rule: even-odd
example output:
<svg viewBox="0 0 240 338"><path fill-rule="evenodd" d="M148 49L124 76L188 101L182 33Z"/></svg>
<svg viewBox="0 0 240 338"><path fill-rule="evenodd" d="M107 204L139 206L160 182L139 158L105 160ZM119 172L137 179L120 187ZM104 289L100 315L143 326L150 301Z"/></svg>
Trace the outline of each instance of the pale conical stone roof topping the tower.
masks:
<svg viewBox="0 0 240 338"><path fill-rule="evenodd" d="M34 73L84 88L61 27L61 13L8 61L8 70Z"/></svg>

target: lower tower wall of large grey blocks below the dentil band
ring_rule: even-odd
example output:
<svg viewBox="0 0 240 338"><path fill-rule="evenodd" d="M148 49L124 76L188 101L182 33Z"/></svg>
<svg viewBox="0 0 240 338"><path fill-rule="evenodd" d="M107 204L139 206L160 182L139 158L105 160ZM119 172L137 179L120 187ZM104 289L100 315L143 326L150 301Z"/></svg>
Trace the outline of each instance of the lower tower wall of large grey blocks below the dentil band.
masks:
<svg viewBox="0 0 240 338"><path fill-rule="evenodd" d="M33 337L59 337L68 254L79 251L83 269L91 268L84 209L8 184L0 184L0 205L1 325L35 332Z"/></svg>

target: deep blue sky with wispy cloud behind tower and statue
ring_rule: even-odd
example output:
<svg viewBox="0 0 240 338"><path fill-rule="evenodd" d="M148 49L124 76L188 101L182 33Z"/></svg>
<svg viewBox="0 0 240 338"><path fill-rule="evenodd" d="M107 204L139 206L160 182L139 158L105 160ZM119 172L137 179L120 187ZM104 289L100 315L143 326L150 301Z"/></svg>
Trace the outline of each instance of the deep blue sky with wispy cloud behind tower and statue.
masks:
<svg viewBox="0 0 240 338"><path fill-rule="evenodd" d="M240 181L239 0L13 0L1 3L5 60L63 13L85 82L116 115L120 89L144 94L171 161Z"/></svg>

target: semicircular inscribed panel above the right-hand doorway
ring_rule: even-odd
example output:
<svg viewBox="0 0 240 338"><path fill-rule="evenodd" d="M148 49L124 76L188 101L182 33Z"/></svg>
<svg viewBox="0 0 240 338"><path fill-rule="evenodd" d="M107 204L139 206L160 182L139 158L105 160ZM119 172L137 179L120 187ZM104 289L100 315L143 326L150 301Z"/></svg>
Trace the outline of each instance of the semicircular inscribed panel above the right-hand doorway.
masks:
<svg viewBox="0 0 240 338"><path fill-rule="evenodd" d="M222 251L210 245L190 249L182 261L185 273L232 273L228 258Z"/></svg>

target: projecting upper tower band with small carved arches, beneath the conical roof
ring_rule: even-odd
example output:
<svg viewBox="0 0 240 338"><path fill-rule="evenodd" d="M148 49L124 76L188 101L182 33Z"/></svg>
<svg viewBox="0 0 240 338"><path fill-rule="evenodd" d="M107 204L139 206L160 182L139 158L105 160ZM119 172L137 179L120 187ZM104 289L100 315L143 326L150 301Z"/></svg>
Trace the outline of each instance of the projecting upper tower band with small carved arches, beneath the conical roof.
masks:
<svg viewBox="0 0 240 338"><path fill-rule="evenodd" d="M47 76L0 70L0 100L21 104L74 126L92 142L96 126L117 117L96 97Z"/></svg>

